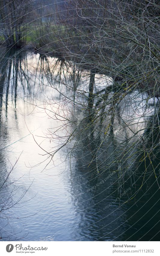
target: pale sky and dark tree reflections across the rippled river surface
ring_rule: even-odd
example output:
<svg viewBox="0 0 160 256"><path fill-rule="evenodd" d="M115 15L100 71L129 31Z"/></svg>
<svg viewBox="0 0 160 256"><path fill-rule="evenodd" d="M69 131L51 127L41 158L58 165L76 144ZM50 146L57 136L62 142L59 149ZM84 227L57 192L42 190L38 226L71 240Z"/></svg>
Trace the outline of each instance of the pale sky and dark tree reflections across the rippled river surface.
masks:
<svg viewBox="0 0 160 256"><path fill-rule="evenodd" d="M20 156L8 181L16 183L1 192L1 203L13 188L14 201L29 188L21 203L5 212L8 219L1 218L2 240L158 240L157 181L149 160L138 158L137 144L131 147L144 131L149 132L155 106L146 108L146 95L140 95L139 100L134 92L119 104L114 126L104 143L101 131L105 133L108 117L103 128L97 125L82 134L72 157L68 154L71 143L59 150L47 165L47 152L53 151L68 133L65 126L59 129L70 106L65 105L65 93L75 101L73 126L77 125L77 131L86 126L85 121L81 122L85 113L79 103L86 101L87 74L75 71L66 78L70 69L64 60L30 52L18 55L7 52L1 59L1 180ZM102 90L111 82L108 77L97 75L96 79L95 90ZM72 85L74 94L70 90ZM77 97L79 87L83 87L83 92ZM62 109L64 120L55 117ZM58 136L51 136L57 129ZM157 171L159 161L154 163ZM122 172L125 166L127 172ZM145 184L135 193L143 182L144 172Z"/></svg>

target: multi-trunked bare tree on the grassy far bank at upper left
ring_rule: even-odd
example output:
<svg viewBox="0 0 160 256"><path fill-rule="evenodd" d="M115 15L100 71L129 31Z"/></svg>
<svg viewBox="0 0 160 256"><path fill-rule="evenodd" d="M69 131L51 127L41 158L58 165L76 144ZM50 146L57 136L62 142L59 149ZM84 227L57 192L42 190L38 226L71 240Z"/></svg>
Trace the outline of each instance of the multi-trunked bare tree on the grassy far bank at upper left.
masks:
<svg viewBox="0 0 160 256"><path fill-rule="evenodd" d="M1 34L3 34L8 47L20 47L24 44L29 19L32 17L32 7L32 1L1 1Z"/></svg>

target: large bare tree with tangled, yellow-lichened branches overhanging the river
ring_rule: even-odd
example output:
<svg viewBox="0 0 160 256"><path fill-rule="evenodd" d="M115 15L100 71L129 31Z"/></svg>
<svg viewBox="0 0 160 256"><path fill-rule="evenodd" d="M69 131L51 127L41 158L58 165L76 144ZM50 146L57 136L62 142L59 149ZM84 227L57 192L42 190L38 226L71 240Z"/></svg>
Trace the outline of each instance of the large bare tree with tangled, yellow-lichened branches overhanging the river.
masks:
<svg viewBox="0 0 160 256"><path fill-rule="evenodd" d="M65 33L59 32L59 48L63 58L69 64L72 63L73 88L75 88L75 70L77 75L78 72L81 72L81 78L82 73L84 76L89 75L87 88L83 83L76 88L76 106L77 109L83 108L84 114L81 120L75 118L71 108L72 105L75 106L75 102L73 103L75 90L73 90L74 97L66 96L59 90L68 109L71 109L67 116L61 115L62 118L65 116L63 128L70 127L72 124L70 135L66 136L65 142L59 149L69 145L72 141L74 144L70 150L72 154L73 150L79 147L82 138L83 140L87 138L93 140L99 136L98 146L94 150L91 162L98 161L101 152L107 151L107 149L104 150L103 145L106 145L111 134L111 137L114 137L114 130L118 129L117 133L121 134L123 128L122 138L125 139L120 144L125 144L126 147L124 149L120 146L115 147L114 152L117 152L118 148L120 152L115 154L114 160L110 160L106 156L109 164L106 164L105 160L106 168L104 169L109 169L112 165L118 166L119 186L124 185L126 175L130 176L133 185L138 167L132 173L131 169L134 163L137 163L138 166L142 157L144 162L149 160L152 174L158 184L158 169L155 168L153 159L154 152L159 147L160 135L158 1L75 0L65 1L63 5L58 5L57 11L61 24L59 29L63 25L63 31L65 30ZM96 89L96 74L108 77L108 82L104 83L102 90ZM68 72L65 76L68 77ZM56 79L55 85L49 80L48 82L57 90ZM64 79L61 79L61 84L66 84ZM69 80L68 84L71 84ZM85 100L80 101L82 96L84 98L87 93L87 103ZM153 98L154 100L152 117L147 122L145 121L145 126L143 126L143 122L140 124L140 121L136 119L140 105L144 102L142 95L145 95L145 104L139 115L143 120L146 119L149 99ZM124 118L125 106L127 105L129 108L133 103L136 104L132 116L129 117L128 114L128 117ZM92 115L90 115L91 112ZM60 116L57 118L59 119ZM134 130L134 125L139 128ZM130 136L128 136L129 133ZM56 136L56 132L53 136ZM141 150L142 145L144 152ZM49 152L50 160L59 149ZM145 172L147 172L147 168ZM145 173L143 175L145 177Z"/></svg>

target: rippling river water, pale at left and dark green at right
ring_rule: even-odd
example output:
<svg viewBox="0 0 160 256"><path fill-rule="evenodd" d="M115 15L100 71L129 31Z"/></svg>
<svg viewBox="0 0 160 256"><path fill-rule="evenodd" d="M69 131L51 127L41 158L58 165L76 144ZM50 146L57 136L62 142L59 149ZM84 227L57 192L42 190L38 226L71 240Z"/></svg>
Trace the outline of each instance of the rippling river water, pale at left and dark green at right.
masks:
<svg viewBox="0 0 160 256"><path fill-rule="evenodd" d="M136 168L136 182L133 184L126 175L121 189L117 167L109 165L113 152L120 155L124 147L119 146L116 137L123 141L125 136L130 136L130 130L125 131L125 135L117 135L118 125L115 124L116 129L102 147L98 160L91 164L91 152L98 147L97 137L88 141L82 138L81 147L71 158L67 157L71 146L62 148L46 167L46 152L59 141L51 138L50 131L61 125L54 114L58 105L53 104L53 98L60 96L48 86L40 68L35 71L34 67L41 66L44 59L38 63L39 55L24 52L23 56L11 58L11 54L13 56L8 53L1 59L1 183L20 158L8 181L14 183L1 191L1 205L8 193L17 201L25 189L28 191L20 203L1 213L2 240L158 241L160 192L149 160L138 165L139 160L132 161L130 172ZM54 58L49 61L50 67L56 62ZM65 88L63 90L66 92ZM123 115L128 115L129 111L133 116L129 106L125 111ZM149 115L152 111L152 107L148 109ZM136 115L137 119L141 118ZM143 126L142 122L140 128ZM133 129L140 128L136 122L133 124ZM65 133L63 129L59 136ZM158 164L159 155L154 161L156 173ZM146 166L145 183L135 195Z"/></svg>

